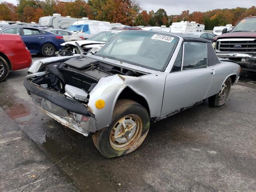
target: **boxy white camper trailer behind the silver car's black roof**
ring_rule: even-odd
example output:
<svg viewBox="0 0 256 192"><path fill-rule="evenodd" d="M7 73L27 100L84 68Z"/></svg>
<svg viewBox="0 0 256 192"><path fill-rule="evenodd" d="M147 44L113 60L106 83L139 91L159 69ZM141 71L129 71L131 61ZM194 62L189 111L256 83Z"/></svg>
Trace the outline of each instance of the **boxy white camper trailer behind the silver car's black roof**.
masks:
<svg viewBox="0 0 256 192"><path fill-rule="evenodd" d="M175 23L172 23L171 32L172 33L204 32L204 25L196 23L194 21L175 22Z"/></svg>

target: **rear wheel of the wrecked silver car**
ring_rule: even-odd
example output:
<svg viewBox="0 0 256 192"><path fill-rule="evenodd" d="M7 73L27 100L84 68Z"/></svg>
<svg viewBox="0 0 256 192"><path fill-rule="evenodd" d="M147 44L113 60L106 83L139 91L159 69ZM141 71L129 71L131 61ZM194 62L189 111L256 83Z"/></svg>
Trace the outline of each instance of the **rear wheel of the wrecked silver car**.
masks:
<svg viewBox="0 0 256 192"><path fill-rule="evenodd" d="M227 78L224 84L220 88L220 92L214 96L209 97L208 102L212 107L218 107L225 104L228 94L231 89L231 78Z"/></svg>

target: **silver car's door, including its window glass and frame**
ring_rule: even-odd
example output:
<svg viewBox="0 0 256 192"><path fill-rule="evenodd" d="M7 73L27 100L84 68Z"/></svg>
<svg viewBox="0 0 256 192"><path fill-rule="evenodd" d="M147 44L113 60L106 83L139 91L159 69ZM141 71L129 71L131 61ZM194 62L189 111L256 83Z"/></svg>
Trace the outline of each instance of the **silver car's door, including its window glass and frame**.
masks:
<svg viewBox="0 0 256 192"><path fill-rule="evenodd" d="M161 115L203 100L214 72L207 67L207 44L184 42L166 76Z"/></svg>

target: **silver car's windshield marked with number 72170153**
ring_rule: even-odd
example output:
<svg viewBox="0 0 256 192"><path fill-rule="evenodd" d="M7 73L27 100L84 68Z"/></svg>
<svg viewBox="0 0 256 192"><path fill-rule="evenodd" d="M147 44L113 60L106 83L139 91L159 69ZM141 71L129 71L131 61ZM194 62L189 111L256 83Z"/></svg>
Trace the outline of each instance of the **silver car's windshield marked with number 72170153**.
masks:
<svg viewBox="0 0 256 192"><path fill-rule="evenodd" d="M95 55L164 71L179 38L161 32L120 32Z"/></svg>

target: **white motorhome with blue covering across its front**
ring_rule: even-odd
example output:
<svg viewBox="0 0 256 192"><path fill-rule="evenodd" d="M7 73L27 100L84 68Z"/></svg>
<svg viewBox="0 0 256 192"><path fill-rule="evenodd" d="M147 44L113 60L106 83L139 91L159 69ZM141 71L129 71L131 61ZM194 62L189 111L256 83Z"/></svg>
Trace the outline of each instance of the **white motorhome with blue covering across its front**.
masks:
<svg viewBox="0 0 256 192"><path fill-rule="evenodd" d="M98 32L107 31L111 29L110 22L96 21L96 20L82 20L74 22L69 28L76 34L84 36L85 39L97 34Z"/></svg>

